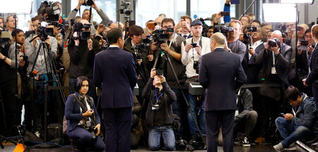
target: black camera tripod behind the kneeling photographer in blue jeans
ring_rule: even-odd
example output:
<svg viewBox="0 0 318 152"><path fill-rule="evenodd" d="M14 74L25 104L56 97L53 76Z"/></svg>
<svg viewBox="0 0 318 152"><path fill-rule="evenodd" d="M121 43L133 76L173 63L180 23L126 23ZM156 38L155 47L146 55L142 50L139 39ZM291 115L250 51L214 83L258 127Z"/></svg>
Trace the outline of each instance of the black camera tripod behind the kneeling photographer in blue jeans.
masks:
<svg viewBox="0 0 318 152"><path fill-rule="evenodd" d="M175 73L175 69L174 69L173 66L172 66L171 59L170 59L170 57L168 56L167 52L160 48L160 45L159 45L158 51L156 52L155 63L153 64L153 68L155 68L155 66L157 66L158 59L159 59L159 56L160 56L161 53L164 54L165 60L168 61L168 64L169 64L170 68L172 69L172 73L173 73L173 75L175 76L175 80L177 81L177 85L179 85L180 81L179 81L179 78L177 77L177 74ZM200 134L200 136L201 136L201 139L202 139L202 141L204 141L204 137L203 137L202 134L201 134L201 130L199 129L198 123L196 122L196 119L194 118L194 114L193 114L193 112L192 112L192 110L191 110L191 107L190 107L190 105L189 105L189 103L188 103L188 100L187 100L187 98L186 98L186 96L185 96L183 90L181 90L181 93L182 93L182 97L184 98L185 103L187 104L187 108L188 108L188 110L189 110L189 112L190 112L190 114L191 114L191 117L192 117L192 119L194 120L194 123L196 124L196 128L197 128L198 131L199 131L199 134Z"/></svg>

